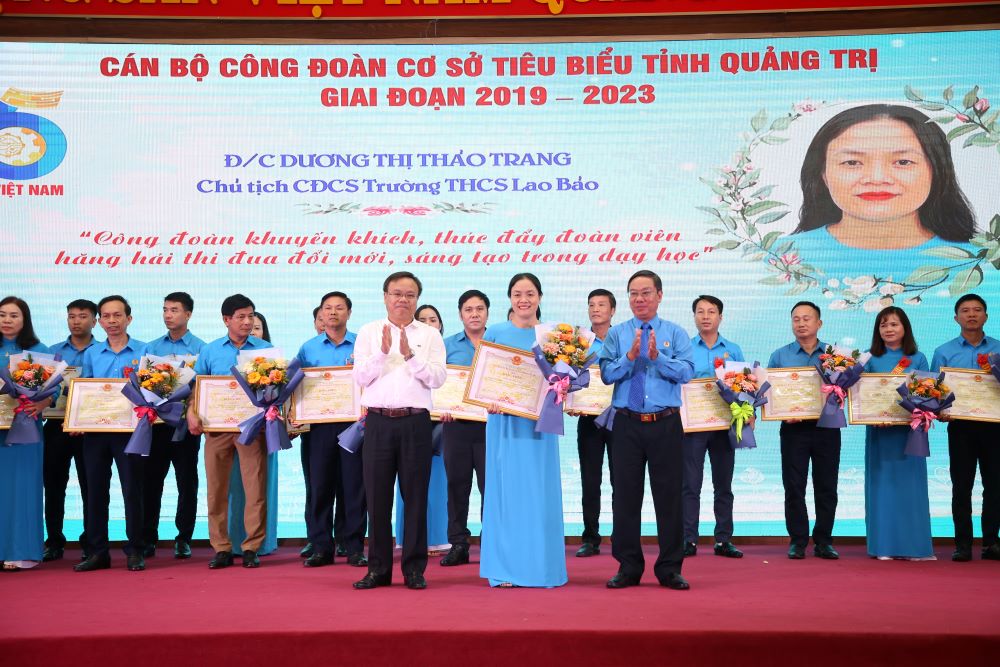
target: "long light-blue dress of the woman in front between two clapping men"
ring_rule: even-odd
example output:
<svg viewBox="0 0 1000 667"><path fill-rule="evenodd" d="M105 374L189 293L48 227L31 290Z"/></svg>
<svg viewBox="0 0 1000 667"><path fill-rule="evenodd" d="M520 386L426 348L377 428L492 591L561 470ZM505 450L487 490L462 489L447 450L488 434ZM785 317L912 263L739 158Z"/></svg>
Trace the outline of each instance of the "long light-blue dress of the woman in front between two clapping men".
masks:
<svg viewBox="0 0 1000 667"><path fill-rule="evenodd" d="M530 350L535 331L504 322L483 340ZM530 353L526 361L534 363ZM535 433L535 422L524 417L490 415L479 576L491 586L562 586L564 536L559 437Z"/></svg>

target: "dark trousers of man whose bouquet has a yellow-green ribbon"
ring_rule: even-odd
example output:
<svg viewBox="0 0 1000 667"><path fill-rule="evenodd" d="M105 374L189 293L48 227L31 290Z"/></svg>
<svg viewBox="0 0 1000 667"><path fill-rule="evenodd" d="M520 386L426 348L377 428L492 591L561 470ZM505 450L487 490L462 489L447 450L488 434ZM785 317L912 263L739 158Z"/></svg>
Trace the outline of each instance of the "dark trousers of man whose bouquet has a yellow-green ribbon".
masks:
<svg viewBox="0 0 1000 667"><path fill-rule="evenodd" d="M733 539L733 470L736 467L736 450L729 442L728 431L684 435L684 540L698 541L706 452L712 466L715 541L729 542Z"/></svg>

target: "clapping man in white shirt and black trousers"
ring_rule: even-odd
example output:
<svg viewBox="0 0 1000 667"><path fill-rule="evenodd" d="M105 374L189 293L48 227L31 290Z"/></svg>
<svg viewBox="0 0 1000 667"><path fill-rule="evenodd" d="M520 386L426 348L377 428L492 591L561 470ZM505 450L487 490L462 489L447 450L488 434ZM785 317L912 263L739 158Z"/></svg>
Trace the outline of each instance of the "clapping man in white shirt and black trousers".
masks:
<svg viewBox="0 0 1000 667"><path fill-rule="evenodd" d="M413 319L421 285L408 271L382 285L386 318L369 322L354 344L354 379L364 393L364 478L368 574L357 589L392 583L392 499L396 476L406 505L401 569L407 588L427 587L427 487L431 475L431 389L444 384L441 333Z"/></svg>

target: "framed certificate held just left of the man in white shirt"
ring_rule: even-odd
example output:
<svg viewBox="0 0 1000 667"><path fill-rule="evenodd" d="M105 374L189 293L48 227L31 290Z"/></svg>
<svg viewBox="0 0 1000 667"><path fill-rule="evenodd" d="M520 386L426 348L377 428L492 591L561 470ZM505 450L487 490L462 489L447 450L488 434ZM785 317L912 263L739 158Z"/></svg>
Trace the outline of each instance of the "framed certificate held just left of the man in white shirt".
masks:
<svg viewBox="0 0 1000 667"><path fill-rule="evenodd" d="M361 419L361 387L353 366L303 368L292 394L289 420L296 424L355 422Z"/></svg>

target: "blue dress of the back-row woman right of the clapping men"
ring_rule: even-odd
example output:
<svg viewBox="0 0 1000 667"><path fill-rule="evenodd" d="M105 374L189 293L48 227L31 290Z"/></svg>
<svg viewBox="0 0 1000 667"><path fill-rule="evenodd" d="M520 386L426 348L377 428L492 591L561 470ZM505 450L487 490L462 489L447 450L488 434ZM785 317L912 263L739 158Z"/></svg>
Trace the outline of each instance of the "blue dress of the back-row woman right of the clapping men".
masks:
<svg viewBox="0 0 1000 667"><path fill-rule="evenodd" d="M869 373L890 373L902 359L901 350L886 350L865 364ZM927 370L920 352L910 356L904 371ZM905 375L900 375L900 384ZM927 459L907 456L908 426L866 427L865 526L868 555L926 558L934 555L927 491Z"/></svg>

